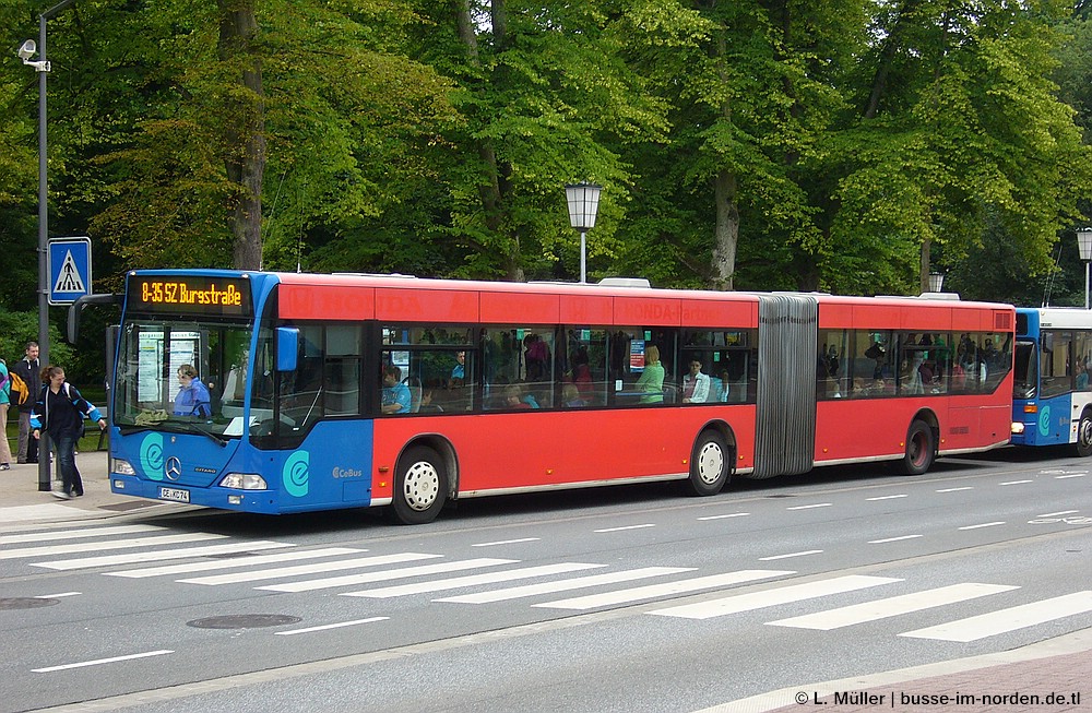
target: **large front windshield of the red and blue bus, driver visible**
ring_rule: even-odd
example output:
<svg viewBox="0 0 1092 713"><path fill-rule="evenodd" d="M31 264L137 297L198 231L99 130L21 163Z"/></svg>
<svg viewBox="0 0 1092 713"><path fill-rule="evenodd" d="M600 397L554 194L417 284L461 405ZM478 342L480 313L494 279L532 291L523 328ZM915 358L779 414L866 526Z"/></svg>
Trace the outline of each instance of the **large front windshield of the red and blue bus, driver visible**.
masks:
<svg viewBox="0 0 1092 713"><path fill-rule="evenodd" d="M192 318L135 318L118 346L114 423L204 433L213 440L242 436L250 323Z"/></svg>

